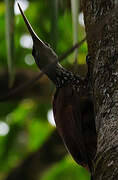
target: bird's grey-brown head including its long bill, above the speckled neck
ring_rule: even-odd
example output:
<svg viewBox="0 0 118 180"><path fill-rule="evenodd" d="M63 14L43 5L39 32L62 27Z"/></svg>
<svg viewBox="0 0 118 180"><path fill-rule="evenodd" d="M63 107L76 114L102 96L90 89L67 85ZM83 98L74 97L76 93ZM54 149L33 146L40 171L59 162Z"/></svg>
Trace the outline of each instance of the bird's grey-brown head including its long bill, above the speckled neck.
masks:
<svg viewBox="0 0 118 180"><path fill-rule="evenodd" d="M44 43L34 32L31 24L29 23L28 19L24 15L20 5L18 4L24 22L28 28L28 31L33 40L33 50L32 55L35 59L36 64L38 67L43 71L43 69L49 65L50 63L56 64L58 57L53 49L47 43Z"/></svg>

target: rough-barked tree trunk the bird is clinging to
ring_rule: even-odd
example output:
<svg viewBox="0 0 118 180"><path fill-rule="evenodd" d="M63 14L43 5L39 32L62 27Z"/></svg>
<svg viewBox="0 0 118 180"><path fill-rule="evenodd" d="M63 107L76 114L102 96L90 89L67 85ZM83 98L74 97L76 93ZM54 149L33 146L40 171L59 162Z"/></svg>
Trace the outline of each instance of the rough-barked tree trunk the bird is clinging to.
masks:
<svg viewBox="0 0 118 180"><path fill-rule="evenodd" d="M83 0L98 135L94 180L118 179L118 13L112 11L100 33L90 38L91 27L116 5L117 0Z"/></svg>

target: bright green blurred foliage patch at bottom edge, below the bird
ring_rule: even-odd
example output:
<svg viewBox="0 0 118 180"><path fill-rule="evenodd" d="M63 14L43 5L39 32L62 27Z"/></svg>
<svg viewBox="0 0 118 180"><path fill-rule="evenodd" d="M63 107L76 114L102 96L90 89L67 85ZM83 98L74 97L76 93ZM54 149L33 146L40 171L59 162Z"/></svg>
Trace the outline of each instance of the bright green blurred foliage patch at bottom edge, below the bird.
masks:
<svg viewBox="0 0 118 180"><path fill-rule="evenodd" d="M66 157L59 163L56 163L49 171L47 171L41 180L60 180L60 179L81 179L87 180L89 173L77 166L70 157Z"/></svg>

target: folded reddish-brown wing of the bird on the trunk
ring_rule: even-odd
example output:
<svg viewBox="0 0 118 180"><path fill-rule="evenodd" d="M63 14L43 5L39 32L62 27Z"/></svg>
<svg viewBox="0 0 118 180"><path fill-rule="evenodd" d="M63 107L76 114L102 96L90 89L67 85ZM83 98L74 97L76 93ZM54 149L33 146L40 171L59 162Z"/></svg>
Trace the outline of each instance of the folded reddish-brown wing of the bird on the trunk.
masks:
<svg viewBox="0 0 118 180"><path fill-rule="evenodd" d="M82 117L78 112L79 97L72 87L56 91L53 113L57 130L75 161L87 167L87 153L82 135Z"/></svg>

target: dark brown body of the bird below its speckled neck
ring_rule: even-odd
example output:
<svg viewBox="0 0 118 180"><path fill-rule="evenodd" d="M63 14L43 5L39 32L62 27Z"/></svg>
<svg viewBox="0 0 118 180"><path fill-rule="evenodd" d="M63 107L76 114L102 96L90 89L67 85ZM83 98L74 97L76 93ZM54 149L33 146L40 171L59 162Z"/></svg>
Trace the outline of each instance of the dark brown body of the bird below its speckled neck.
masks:
<svg viewBox="0 0 118 180"><path fill-rule="evenodd" d="M57 89L53 99L56 126L75 161L91 171L96 152L93 103L79 97L68 85Z"/></svg>

